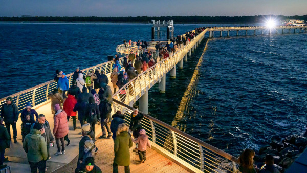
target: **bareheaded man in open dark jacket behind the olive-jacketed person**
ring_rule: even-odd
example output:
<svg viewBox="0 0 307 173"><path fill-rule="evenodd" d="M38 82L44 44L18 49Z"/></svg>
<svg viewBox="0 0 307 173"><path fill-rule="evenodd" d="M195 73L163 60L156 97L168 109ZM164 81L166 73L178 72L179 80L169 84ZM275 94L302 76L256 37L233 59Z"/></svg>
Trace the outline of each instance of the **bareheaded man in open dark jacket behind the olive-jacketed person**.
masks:
<svg viewBox="0 0 307 173"><path fill-rule="evenodd" d="M35 124L40 124L41 127L42 127L41 136L43 138L45 138L45 142L46 142L46 145L47 145L48 159L50 159L51 158L50 152L49 152L50 143L54 144L55 141L54 141L54 138L53 138L52 133L51 133L49 122L46 120L45 115L39 114L35 123L32 124L31 130L33 129Z"/></svg>

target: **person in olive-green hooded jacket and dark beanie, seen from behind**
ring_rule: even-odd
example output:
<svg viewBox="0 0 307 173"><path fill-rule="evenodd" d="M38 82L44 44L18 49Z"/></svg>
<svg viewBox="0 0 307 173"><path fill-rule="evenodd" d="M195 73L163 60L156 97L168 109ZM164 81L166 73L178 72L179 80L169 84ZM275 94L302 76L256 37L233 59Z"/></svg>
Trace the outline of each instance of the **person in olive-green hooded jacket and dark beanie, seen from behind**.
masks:
<svg viewBox="0 0 307 173"><path fill-rule="evenodd" d="M27 153L31 172L45 172L48 152L45 139L41 136L43 131L40 124L34 124L31 132L25 137L23 148Z"/></svg>

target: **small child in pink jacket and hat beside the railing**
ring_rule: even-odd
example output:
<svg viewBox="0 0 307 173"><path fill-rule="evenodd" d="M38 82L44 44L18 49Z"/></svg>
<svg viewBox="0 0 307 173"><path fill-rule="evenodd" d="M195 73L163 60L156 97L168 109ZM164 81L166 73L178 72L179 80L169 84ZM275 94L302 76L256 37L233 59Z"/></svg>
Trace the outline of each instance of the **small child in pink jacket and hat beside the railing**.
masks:
<svg viewBox="0 0 307 173"><path fill-rule="evenodd" d="M139 154L139 157L140 157L140 162L144 163L145 160L146 160L147 146L149 148L151 148L148 136L146 135L146 131L144 129L141 129L139 137L137 139L133 139L132 141L139 145L138 146L138 154Z"/></svg>

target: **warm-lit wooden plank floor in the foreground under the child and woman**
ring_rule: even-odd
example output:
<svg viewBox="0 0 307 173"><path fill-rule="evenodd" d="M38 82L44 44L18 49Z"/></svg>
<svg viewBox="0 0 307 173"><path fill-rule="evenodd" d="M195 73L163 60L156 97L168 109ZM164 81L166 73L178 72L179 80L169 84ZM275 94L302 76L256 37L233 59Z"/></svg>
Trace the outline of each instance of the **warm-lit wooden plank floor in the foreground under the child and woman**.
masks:
<svg viewBox="0 0 307 173"><path fill-rule="evenodd" d="M95 144L98 147L98 154L95 158L95 164L100 167L102 172L113 172L112 164L114 159L114 142L112 138L97 139ZM135 148L135 145L130 148L131 172L188 172L176 163L160 155L155 150L149 148L147 148L146 151L145 163L140 163L139 156L133 152L133 148ZM74 172L76 167L77 158L75 158L71 163L56 170L55 172ZM124 172L124 166L119 166L118 170L119 172Z"/></svg>

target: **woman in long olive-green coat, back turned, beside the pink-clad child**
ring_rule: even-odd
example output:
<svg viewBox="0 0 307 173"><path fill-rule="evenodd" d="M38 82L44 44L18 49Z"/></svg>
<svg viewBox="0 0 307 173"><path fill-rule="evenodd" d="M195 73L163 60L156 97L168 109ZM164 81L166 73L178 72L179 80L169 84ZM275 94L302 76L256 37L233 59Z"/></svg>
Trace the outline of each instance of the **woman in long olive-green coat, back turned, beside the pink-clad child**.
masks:
<svg viewBox="0 0 307 173"><path fill-rule="evenodd" d="M131 136L128 134L128 126L122 123L118 125L114 141L113 172L118 172L118 166L125 166L125 173L130 172L130 151L133 145Z"/></svg>

